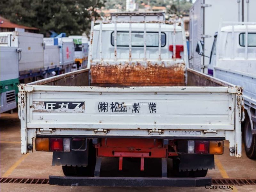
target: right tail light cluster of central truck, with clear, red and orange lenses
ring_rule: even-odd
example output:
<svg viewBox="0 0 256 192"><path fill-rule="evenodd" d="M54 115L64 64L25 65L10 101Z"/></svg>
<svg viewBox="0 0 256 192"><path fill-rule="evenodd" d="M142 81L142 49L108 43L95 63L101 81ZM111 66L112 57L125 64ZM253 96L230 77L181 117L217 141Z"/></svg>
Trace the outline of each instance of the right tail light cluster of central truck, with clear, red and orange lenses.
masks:
<svg viewBox="0 0 256 192"><path fill-rule="evenodd" d="M223 141L188 140L189 154L223 154Z"/></svg>

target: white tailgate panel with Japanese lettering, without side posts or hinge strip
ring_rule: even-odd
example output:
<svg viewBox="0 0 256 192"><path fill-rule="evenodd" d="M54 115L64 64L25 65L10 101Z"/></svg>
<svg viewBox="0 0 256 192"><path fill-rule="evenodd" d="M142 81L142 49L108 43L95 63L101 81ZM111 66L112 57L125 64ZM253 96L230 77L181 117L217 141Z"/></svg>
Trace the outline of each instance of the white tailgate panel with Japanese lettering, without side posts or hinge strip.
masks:
<svg viewBox="0 0 256 192"><path fill-rule="evenodd" d="M27 96L28 128L234 129L235 98L228 92L33 91Z"/></svg>

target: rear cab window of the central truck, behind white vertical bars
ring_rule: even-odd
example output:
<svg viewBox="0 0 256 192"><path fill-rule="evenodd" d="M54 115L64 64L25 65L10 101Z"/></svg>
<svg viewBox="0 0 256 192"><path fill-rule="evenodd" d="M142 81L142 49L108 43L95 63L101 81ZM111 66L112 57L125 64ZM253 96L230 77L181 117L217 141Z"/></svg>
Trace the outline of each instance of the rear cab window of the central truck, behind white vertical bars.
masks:
<svg viewBox="0 0 256 192"><path fill-rule="evenodd" d="M117 31L116 46L127 47L129 46L129 32L128 31ZM111 44L114 46L114 31L111 33ZM166 44L166 34L161 33L161 47ZM147 47L158 47L158 32L147 32L146 33L146 45ZM143 32L132 31L132 47L143 47L144 36Z"/></svg>

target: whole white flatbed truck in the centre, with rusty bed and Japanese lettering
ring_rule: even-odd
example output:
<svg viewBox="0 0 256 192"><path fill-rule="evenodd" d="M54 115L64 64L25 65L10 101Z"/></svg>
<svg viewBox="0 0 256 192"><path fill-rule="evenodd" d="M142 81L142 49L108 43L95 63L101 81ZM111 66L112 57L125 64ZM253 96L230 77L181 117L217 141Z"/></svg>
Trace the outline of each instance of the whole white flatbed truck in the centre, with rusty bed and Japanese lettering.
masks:
<svg viewBox="0 0 256 192"><path fill-rule="evenodd" d="M188 68L183 22L92 20L89 42L87 69L19 85L21 153L52 151L70 176L50 184L205 186L223 140L241 157L242 88ZM104 157L121 177L100 177ZM122 177L124 159L151 174Z"/></svg>

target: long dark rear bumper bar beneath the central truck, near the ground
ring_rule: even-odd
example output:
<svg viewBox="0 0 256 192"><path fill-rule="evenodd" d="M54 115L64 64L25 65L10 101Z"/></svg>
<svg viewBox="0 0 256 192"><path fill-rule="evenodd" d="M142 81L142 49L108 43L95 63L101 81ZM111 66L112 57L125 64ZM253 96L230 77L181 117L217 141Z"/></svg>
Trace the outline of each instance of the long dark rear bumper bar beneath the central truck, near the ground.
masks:
<svg viewBox="0 0 256 192"><path fill-rule="evenodd" d="M211 185L212 178L60 177L50 175L49 184L98 187L203 187Z"/></svg>

